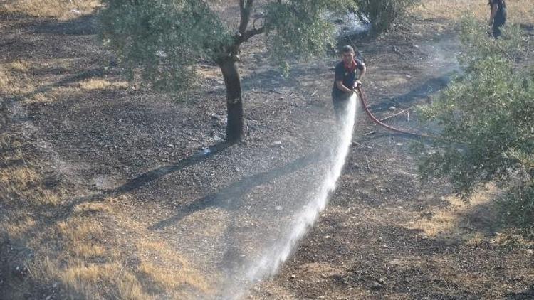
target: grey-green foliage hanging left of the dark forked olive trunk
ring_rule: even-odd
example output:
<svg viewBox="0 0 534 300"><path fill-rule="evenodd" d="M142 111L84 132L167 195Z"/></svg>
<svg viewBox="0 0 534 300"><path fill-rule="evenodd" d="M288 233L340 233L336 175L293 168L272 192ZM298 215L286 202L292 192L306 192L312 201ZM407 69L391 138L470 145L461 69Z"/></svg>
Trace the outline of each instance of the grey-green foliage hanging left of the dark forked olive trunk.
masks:
<svg viewBox="0 0 534 300"><path fill-rule="evenodd" d="M194 83L199 58L231 43L228 28L204 1L107 0L100 12L100 36L130 70L161 90Z"/></svg>

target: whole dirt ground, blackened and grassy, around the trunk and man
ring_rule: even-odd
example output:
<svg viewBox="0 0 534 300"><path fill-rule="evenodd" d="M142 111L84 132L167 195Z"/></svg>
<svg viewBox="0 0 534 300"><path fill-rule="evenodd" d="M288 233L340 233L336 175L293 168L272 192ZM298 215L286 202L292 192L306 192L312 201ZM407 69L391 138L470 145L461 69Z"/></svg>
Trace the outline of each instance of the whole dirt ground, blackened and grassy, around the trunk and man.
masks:
<svg viewBox="0 0 534 300"><path fill-rule="evenodd" d="M313 154L335 130L336 58L295 62L284 78L260 41L245 45L246 137L226 147L214 65L177 102L126 82L93 16L0 14L0 31L0 63L16 88L1 99L1 167L6 178L25 170L28 190L2 186L0 299L215 298L220 277L239 277L320 173ZM459 70L451 21L416 18L351 43L367 63L372 112L429 130L414 107ZM244 283L243 297L534 299L534 244L497 226L498 190L466 204L444 182L421 183L413 142L360 109L328 207L280 272Z"/></svg>

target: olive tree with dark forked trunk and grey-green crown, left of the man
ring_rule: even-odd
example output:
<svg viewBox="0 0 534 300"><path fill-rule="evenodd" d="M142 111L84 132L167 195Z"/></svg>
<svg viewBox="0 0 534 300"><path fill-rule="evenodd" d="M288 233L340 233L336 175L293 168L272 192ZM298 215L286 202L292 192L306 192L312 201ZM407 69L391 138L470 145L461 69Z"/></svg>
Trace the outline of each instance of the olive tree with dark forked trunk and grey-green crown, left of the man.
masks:
<svg viewBox="0 0 534 300"><path fill-rule="evenodd" d="M211 1L215 2L215 1ZM327 11L347 11L351 0L236 0L239 16L226 18L207 0L105 0L100 36L130 70L158 90L194 87L195 68L211 60L226 87L226 141L243 134L243 100L237 62L241 45L265 38L273 58L321 55L333 42ZM226 4L231 5L231 4ZM237 9L236 9L237 11Z"/></svg>

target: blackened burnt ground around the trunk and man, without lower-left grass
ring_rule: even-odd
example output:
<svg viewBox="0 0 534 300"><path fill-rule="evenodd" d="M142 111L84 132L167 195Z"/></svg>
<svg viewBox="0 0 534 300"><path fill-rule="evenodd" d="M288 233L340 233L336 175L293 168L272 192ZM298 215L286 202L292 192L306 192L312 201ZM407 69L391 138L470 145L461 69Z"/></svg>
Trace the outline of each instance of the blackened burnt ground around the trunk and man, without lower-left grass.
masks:
<svg viewBox="0 0 534 300"><path fill-rule="evenodd" d="M256 252L262 230L276 231L276 207L298 206L287 201L301 193L295 186L312 184L306 178L316 170L313 153L335 128L335 58L296 62L286 79L268 65L260 41L245 45L246 137L226 147L224 85L213 65L202 66L202 88L181 101L132 86L80 90L83 80L125 80L95 40L92 18L2 15L0 28L1 62L35 64L19 76L36 82L31 92L4 97L2 130L23 136L49 184L65 191L58 207L30 212L38 216L36 228L68 219L80 203L125 195L120 205L128 218L208 276L217 264L238 264ZM458 68L454 28L446 20L416 20L353 43L367 62L370 109L379 118L404 110L388 124L424 132L413 110ZM53 91L53 101L23 101ZM414 139L358 116L328 207L280 272L254 285L249 297L534 298L532 250L495 242L501 228L492 202L459 209L446 183L419 181ZM444 214L452 228L425 227ZM1 262L4 269L12 265ZM7 294L16 284L4 278L0 290ZM25 297L41 299L46 290L36 286Z"/></svg>

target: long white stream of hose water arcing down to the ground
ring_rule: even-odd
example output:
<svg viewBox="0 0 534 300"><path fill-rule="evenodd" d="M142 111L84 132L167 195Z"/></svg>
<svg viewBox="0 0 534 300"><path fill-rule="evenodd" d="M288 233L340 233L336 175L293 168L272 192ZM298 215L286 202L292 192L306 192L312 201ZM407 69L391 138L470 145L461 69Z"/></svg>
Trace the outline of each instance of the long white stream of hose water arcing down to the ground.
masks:
<svg viewBox="0 0 534 300"><path fill-rule="evenodd" d="M356 100L357 96L350 97L345 114L337 120L337 132L330 141L327 141L329 146L323 151L323 159L319 160L320 164L323 164L323 168L320 168L324 172L323 176L317 178L310 176L313 181L317 182L310 183L308 186L300 186L302 189L309 186L315 186L315 188L310 193L300 191L300 195L306 197L303 201L297 201L302 203L302 206L292 210L293 215L288 218L287 223L283 223L278 237L271 239L271 245L266 245L254 259L239 268L244 271L244 274L241 274L243 277L238 281L236 277L231 279L223 291L223 299L238 299L245 291L244 286L276 274L281 264L286 262L299 240L318 218L320 211L326 207L328 196L335 189L337 178L341 175L350 149L352 129L355 124ZM239 275L237 277L239 278Z"/></svg>

